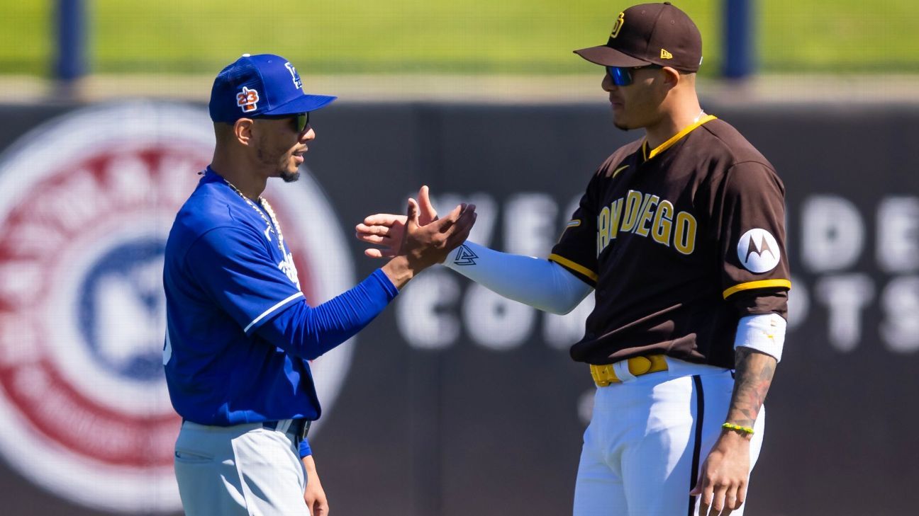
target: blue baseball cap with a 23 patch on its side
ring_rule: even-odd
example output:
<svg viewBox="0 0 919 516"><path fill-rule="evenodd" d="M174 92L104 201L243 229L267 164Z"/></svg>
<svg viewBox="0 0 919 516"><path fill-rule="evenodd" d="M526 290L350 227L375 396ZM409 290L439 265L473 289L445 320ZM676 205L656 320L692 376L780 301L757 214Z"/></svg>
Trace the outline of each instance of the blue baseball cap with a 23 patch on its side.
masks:
<svg viewBox="0 0 919 516"><path fill-rule="evenodd" d="M217 74L210 89L210 119L233 123L262 115L297 115L328 106L336 96L303 93L300 73L274 54L243 54Z"/></svg>

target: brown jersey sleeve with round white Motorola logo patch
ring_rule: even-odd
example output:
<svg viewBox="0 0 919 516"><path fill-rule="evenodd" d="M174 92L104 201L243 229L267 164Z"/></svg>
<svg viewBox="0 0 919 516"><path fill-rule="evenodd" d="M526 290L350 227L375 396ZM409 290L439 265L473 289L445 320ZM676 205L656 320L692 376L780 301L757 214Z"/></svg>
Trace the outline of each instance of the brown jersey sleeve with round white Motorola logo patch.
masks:
<svg viewBox="0 0 919 516"><path fill-rule="evenodd" d="M737 163L716 193L714 237L720 251L722 296L741 317L788 313L785 187L764 163Z"/></svg>

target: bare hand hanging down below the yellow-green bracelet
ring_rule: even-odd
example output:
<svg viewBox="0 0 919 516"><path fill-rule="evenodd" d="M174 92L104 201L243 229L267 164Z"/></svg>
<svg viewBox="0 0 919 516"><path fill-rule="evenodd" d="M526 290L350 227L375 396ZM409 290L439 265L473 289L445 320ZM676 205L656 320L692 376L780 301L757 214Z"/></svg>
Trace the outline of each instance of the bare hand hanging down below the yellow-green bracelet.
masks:
<svg viewBox="0 0 919 516"><path fill-rule="evenodd" d="M698 516L727 516L746 499L750 477L750 441L733 431L721 432L702 464L691 496L701 496ZM709 512L710 510L710 512Z"/></svg>

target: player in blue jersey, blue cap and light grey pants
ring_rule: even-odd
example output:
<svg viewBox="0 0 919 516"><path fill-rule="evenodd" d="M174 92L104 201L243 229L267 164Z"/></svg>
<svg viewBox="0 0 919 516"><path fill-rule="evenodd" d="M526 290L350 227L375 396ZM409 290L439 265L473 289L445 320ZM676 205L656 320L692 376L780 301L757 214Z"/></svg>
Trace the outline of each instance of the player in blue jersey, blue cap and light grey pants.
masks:
<svg viewBox="0 0 919 516"><path fill-rule="evenodd" d="M213 161L179 210L165 249L169 396L183 418L176 480L189 516L325 516L306 439L321 414L309 360L345 342L414 275L464 241L475 207L420 227L409 199L400 252L357 286L311 307L274 211L268 178L295 181L310 112L287 60L245 54L217 76ZM304 503L305 499L305 503Z"/></svg>

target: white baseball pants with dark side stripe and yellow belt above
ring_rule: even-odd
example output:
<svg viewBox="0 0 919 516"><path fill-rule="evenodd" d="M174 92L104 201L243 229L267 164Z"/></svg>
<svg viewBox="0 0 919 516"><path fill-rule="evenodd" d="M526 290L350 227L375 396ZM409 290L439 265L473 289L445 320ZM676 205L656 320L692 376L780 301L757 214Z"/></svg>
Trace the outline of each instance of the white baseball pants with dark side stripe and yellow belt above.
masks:
<svg viewBox="0 0 919 516"><path fill-rule="evenodd" d="M694 516L699 468L721 432L731 371L667 358L668 371L597 387L574 488L574 516ZM750 443L763 443L766 410ZM732 516L743 515L743 508Z"/></svg>

